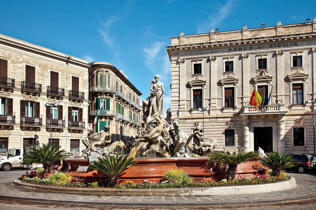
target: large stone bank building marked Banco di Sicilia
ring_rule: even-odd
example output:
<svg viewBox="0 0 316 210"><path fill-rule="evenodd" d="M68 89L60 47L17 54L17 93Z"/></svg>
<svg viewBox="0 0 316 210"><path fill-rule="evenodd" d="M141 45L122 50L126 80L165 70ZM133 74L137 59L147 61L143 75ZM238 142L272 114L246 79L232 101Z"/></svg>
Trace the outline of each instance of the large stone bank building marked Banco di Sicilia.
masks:
<svg viewBox="0 0 316 210"><path fill-rule="evenodd" d="M218 150L313 153L316 18L313 22L184 35L167 46L171 119L191 133L195 122ZM252 106L256 88L265 106ZM201 126L203 129L203 126Z"/></svg>

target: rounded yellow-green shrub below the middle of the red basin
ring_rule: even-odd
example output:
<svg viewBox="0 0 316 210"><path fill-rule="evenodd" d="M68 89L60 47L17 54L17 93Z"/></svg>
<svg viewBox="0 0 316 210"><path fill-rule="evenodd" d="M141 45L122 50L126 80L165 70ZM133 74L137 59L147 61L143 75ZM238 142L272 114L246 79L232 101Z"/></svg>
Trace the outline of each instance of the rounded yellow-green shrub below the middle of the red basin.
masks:
<svg viewBox="0 0 316 210"><path fill-rule="evenodd" d="M168 181L169 183L179 183L182 185L190 185L193 183L193 178L180 168L178 170L169 170L168 172L166 172L162 177L162 181Z"/></svg>

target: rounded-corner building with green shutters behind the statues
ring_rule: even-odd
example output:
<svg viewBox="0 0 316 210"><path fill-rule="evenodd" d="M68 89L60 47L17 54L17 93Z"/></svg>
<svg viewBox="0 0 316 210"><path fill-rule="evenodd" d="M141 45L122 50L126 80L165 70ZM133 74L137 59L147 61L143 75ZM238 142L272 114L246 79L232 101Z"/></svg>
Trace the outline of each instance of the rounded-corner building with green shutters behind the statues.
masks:
<svg viewBox="0 0 316 210"><path fill-rule="evenodd" d="M141 92L112 63L93 62L90 65L91 123L98 112L94 132L103 129L104 125L110 125L110 132L118 134L122 140L135 137L142 126L139 105Z"/></svg>

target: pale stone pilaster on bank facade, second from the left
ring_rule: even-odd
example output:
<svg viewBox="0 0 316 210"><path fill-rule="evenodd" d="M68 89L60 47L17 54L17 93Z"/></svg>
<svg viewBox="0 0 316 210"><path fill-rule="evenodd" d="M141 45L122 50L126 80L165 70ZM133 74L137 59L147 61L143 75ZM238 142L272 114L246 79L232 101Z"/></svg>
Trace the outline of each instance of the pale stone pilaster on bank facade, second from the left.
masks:
<svg viewBox="0 0 316 210"><path fill-rule="evenodd" d="M210 106L216 107L216 94L217 94L217 71L216 71L216 55L210 56Z"/></svg>

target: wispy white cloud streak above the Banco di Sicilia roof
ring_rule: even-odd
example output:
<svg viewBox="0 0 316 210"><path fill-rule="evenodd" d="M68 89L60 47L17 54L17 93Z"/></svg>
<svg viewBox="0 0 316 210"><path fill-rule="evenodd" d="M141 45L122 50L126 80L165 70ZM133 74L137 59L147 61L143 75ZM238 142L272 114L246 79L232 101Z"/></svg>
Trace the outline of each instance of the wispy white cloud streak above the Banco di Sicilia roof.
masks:
<svg viewBox="0 0 316 210"><path fill-rule="evenodd" d="M225 5L218 9L218 12L215 15L209 16L205 23L197 25L198 33L207 33L210 32L212 28L220 26L222 21L228 17L235 6L236 1L228 0Z"/></svg>

